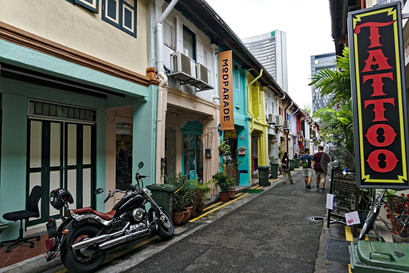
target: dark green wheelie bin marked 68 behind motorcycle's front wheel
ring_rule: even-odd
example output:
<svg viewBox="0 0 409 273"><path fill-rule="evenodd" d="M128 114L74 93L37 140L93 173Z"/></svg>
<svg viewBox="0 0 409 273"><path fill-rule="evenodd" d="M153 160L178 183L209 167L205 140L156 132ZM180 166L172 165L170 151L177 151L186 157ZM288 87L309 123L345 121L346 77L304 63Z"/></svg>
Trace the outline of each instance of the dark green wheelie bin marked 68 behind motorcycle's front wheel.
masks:
<svg viewBox="0 0 409 273"><path fill-rule="evenodd" d="M152 193L152 199L158 206L161 206L172 219L173 214L173 193L178 187L171 184L152 184L146 186Z"/></svg>

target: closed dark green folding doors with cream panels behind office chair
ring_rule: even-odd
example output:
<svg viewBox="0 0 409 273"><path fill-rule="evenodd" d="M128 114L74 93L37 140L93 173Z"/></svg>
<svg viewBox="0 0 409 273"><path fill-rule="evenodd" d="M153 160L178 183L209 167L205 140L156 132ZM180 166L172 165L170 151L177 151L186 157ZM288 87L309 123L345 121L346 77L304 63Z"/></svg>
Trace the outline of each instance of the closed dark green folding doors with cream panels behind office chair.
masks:
<svg viewBox="0 0 409 273"><path fill-rule="evenodd" d="M30 218L27 226L59 218L60 212L49 204L56 188L71 193L72 209L94 205L95 125L29 119L27 131L26 200L34 186L47 187L38 204L40 218Z"/></svg>

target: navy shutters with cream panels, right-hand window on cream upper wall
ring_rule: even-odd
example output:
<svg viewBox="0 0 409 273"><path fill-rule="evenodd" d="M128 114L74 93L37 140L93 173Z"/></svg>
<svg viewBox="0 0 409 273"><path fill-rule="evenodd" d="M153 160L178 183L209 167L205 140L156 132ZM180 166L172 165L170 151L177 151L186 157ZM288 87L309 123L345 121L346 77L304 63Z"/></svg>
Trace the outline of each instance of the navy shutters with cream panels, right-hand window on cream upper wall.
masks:
<svg viewBox="0 0 409 273"><path fill-rule="evenodd" d="M102 1L102 20L136 37L136 2L134 0Z"/></svg>

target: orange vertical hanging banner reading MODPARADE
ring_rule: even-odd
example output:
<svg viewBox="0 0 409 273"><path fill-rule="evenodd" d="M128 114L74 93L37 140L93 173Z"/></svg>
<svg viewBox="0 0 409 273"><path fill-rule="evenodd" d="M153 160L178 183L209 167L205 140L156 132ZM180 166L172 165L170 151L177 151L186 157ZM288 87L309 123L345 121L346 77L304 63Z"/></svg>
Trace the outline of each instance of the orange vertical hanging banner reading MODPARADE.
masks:
<svg viewBox="0 0 409 273"><path fill-rule="evenodd" d="M234 129L233 56L231 50L219 52L220 129Z"/></svg>

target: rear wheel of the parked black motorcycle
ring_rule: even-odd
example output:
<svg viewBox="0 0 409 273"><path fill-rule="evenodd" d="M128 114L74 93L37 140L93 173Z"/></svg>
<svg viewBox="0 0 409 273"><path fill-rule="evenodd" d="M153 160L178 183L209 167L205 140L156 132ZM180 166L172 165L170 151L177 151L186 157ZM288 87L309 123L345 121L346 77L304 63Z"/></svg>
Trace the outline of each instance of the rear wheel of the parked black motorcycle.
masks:
<svg viewBox="0 0 409 273"><path fill-rule="evenodd" d="M81 226L74 230L68 246L80 242L87 238L97 236L98 228L94 226ZM106 252L97 251L94 246L89 246L81 249L71 250L69 247L67 251L61 254L61 261L64 266L72 272L94 272L105 259Z"/></svg>

